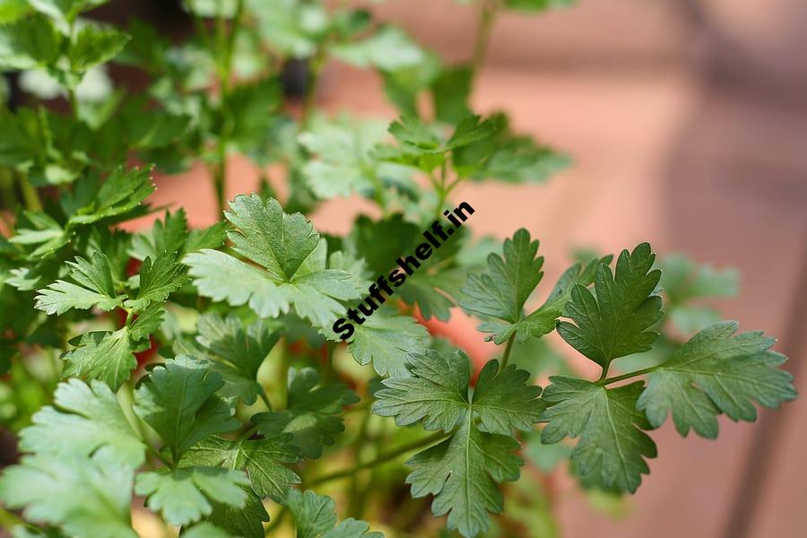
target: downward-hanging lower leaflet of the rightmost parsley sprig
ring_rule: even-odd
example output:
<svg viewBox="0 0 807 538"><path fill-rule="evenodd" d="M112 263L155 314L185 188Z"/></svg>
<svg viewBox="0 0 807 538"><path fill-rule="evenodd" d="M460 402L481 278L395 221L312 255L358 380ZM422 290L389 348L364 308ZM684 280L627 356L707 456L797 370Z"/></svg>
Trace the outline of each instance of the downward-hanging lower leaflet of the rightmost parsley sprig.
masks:
<svg viewBox="0 0 807 538"><path fill-rule="evenodd" d="M592 475L606 488L636 491L642 474L649 473L645 458L655 457L655 443L642 430L650 425L636 403L642 382L608 389L571 377L550 377L543 391L549 404L541 421L545 444L577 438L572 462L585 478Z"/></svg>

